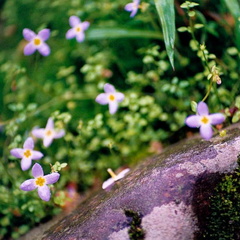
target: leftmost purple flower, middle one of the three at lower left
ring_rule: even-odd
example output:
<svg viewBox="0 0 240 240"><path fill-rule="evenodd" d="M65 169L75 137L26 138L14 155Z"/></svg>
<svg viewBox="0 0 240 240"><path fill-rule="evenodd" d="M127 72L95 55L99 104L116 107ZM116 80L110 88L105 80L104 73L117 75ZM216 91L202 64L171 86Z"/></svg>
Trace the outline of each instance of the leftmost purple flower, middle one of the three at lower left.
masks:
<svg viewBox="0 0 240 240"><path fill-rule="evenodd" d="M39 151L34 151L34 141L31 137L23 144L22 148L14 148L10 151L11 155L16 158L21 158L21 168L23 171L28 170L32 165L32 160L38 160L43 157L43 154Z"/></svg>

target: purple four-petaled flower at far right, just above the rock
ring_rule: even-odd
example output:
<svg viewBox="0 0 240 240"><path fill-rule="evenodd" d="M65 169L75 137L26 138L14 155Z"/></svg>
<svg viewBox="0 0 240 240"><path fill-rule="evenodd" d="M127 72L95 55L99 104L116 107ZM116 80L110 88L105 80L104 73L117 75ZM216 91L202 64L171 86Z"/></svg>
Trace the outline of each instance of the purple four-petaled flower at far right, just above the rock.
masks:
<svg viewBox="0 0 240 240"><path fill-rule="evenodd" d="M209 140L213 135L211 125L220 124L224 120L225 116L222 113L209 114L207 104L199 102L197 105L197 115L187 117L185 122L189 127L200 127L201 136Z"/></svg>

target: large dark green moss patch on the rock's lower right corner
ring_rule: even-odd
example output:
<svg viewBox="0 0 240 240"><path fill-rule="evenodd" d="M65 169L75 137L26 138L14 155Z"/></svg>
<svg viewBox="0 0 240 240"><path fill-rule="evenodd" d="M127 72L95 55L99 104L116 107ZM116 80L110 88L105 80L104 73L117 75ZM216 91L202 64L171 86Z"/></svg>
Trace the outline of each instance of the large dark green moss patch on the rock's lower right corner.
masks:
<svg viewBox="0 0 240 240"><path fill-rule="evenodd" d="M205 226L198 239L240 239L240 168L225 175L215 188Z"/></svg>

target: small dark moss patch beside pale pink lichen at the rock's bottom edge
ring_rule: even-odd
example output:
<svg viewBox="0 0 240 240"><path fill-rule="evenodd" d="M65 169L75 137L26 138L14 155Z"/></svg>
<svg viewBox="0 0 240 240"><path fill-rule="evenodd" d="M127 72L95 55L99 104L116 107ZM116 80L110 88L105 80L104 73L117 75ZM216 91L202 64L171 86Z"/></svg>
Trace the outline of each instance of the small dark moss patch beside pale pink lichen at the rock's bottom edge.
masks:
<svg viewBox="0 0 240 240"><path fill-rule="evenodd" d="M130 229L128 230L130 240L143 240L145 233L141 226L142 218L139 213L125 210L125 215L131 218Z"/></svg>

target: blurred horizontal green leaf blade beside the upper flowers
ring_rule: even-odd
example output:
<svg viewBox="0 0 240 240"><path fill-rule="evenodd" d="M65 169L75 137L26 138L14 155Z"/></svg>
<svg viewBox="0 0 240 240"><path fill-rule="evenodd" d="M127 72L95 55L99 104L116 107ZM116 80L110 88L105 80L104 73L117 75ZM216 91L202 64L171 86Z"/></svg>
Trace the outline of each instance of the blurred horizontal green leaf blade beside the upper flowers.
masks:
<svg viewBox="0 0 240 240"><path fill-rule="evenodd" d="M86 32L88 40L115 39L115 38L153 38L163 39L161 33L140 29L127 28L97 28L89 29Z"/></svg>

